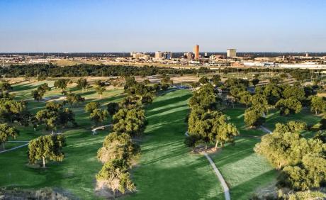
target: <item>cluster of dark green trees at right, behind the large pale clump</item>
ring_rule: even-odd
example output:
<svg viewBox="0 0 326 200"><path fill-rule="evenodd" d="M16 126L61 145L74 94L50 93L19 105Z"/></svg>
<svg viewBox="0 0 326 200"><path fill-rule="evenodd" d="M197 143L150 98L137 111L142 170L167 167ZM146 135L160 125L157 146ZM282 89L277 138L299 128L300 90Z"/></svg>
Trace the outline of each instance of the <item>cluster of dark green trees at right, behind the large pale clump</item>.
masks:
<svg viewBox="0 0 326 200"><path fill-rule="evenodd" d="M254 79L252 80L252 82ZM276 84L273 80L264 86L255 88L255 94L247 91L249 82L245 79L227 79L223 89L229 91L228 99L247 107L245 123L249 127L262 125L267 111L277 108L281 115L299 113L303 106L310 106L316 114L326 111L325 98L315 96L313 87L301 87L300 84Z"/></svg>

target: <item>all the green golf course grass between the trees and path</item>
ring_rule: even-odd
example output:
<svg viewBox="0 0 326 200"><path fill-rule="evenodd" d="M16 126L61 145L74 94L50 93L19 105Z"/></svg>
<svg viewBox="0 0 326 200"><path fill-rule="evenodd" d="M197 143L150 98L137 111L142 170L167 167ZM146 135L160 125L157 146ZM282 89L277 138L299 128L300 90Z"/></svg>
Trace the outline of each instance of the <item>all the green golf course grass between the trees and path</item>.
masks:
<svg viewBox="0 0 326 200"><path fill-rule="evenodd" d="M43 82L47 82L50 87L54 83ZM28 108L33 113L43 109L45 102L33 101L30 91L43 82L23 82L13 86L16 100L28 101ZM75 87L68 87L67 90L81 94L86 101L75 107L67 105L76 114L79 126L58 130L67 137L63 162L49 162L45 170L33 169L26 166L27 147L5 152L0 154L0 187L53 187L64 189L81 199L100 199L94 194L95 174L101 169L101 163L96 160L96 152L108 130L100 130L99 134L91 135L94 123L89 120L84 105L97 101L105 108L108 102L120 101L125 94L122 90L108 90L99 99L94 88L84 93ZM58 95L61 95L60 89L52 89L45 97ZM190 153L191 150L184 146L184 133L187 129L184 118L189 113L187 103L190 97L191 93L187 90L171 91L157 97L147 106L148 125L140 143L142 153L138 165L132 171L137 192L123 196L122 199L224 199L223 189L208 160L203 155ZM248 199L257 189L273 184L277 172L264 157L254 153L254 145L259 143L259 137L265 133L245 126L245 108L226 109L223 112L240 130L240 136L236 138L235 145L226 145L211 157L230 187L231 198ZM278 111L272 110L264 126L273 130L276 123L291 120L305 121L313 126L320 118L307 109L290 116L279 116ZM110 119L103 122L108 123ZM17 128L21 130L17 140L31 140L50 133L43 127L37 131L31 127ZM313 133L306 131L304 134L309 136ZM6 148L22 144L7 143Z"/></svg>

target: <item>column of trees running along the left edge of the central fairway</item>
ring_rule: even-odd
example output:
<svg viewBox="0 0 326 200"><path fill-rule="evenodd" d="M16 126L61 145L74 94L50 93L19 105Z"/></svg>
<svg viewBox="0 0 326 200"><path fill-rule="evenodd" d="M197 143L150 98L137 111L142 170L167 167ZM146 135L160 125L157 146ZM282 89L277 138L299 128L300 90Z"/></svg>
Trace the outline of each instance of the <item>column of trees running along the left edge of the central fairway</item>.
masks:
<svg viewBox="0 0 326 200"><path fill-rule="evenodd" d="M135 184L130 177L132 160L140 153L140 146L132 138L142 134L145 128L145 104L152 102L147 99L152 93L152 87L148 82L138 83L133 77L128 77L125 83L125 91L128 96L120 102L107 105L107 112L112 116L112 132L106 136L103 147L97 153L98 159L103 163L97 181L103 183L113 191L124 194L127 191L134 191ZM144 99L147 99L144 101ZM87 110L91 103L87 104ZM93 110L94 112L94 110Z"/></svg>

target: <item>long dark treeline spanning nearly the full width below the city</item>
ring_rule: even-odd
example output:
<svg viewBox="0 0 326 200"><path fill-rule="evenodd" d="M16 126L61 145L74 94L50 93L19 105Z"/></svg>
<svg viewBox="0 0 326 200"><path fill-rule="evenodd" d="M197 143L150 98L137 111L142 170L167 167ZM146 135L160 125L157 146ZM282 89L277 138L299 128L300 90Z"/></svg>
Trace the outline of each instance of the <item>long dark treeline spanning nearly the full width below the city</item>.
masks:
<svg viewBox="0 0 326 200"><path fill-rule="evenodd" d="M11 65L0 68L1 77L110 77L110 76L150 76L155 74L205 74L210 72L279 72L291 74L305 74L305 79L310 76L310 70L291 70L276 68L232 68L211 70L207 67L199 69L177 69L171 67L134 67L125 65L89 65L81 64L60 67L52 64ZM317 70L316 70L317 71Z"/></svg>

